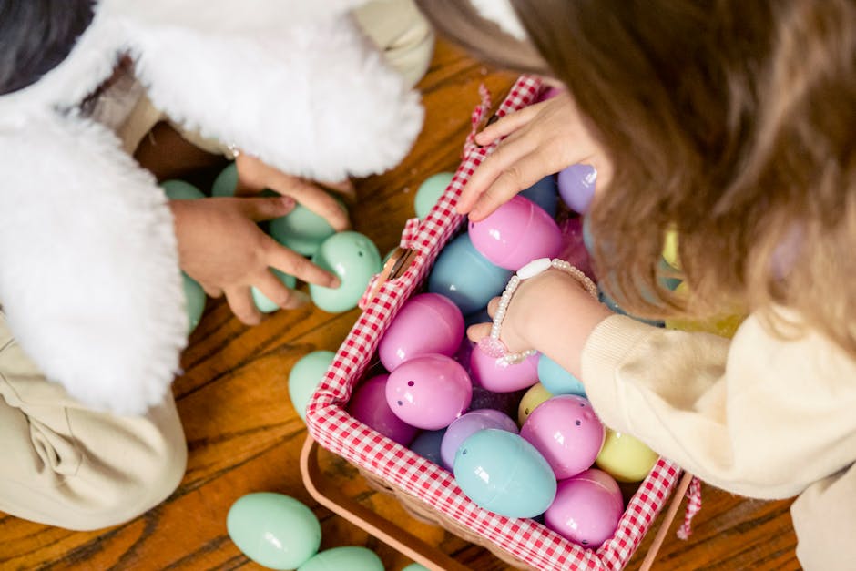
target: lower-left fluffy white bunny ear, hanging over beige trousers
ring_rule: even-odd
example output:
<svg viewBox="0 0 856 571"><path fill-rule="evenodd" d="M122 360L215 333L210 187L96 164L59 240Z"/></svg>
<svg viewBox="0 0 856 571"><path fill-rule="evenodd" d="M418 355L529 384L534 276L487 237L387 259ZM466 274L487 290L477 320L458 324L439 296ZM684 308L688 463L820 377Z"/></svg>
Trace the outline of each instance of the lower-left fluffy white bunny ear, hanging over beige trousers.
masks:
<svg viewBox="0 0 856 571"><path fill-rule="evenodd" d="M0 148L0 300L18 342L81 402L144 412L188 327L163 192L75 117L31 118Z"/></svg>

